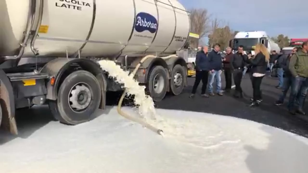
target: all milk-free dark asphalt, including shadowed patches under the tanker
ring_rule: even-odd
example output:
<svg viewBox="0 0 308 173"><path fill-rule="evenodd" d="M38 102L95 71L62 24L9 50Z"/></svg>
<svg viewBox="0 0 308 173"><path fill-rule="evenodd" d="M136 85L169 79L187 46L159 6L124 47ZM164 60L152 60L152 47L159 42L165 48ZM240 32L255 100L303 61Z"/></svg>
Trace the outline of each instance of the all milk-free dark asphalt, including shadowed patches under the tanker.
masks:
<svg viewBox="0 0 308 173"><path fill-rule="evenodd" d="M201 92L201 83L199 85L197 95L194 99L190 99L189 95L192 90L194 78L188 78L188 86L184 88L182 94L178 96L167 95L163 101L157 102L156 107L162 109L185 110L206 112L219 115L237 117L241 119L249 119L258 123L267 124L278 127L286 131L308 138L308 116L290 115L286 106L275 106L273 103L278 99L281 90L276 89L278 83L277 78L266 76L261 85L263 92L263 102L260 107L250 108L250 98L252 97L252 86L247 74L242 81L244 98L235 99L232 94L224 93L224 96L215 95L210 98L203 98L199 94ZM222 74L222 88L225 87L225 78ZM108 105L116 105L121 93L108 93ZM131 100L126 99L126 104L130 104ZM304 111L308 112L308 108L304 107ZM189 115L187 115L189 116ZM18 124L18 137L27 138L41 127L52 121L52 115L48 106L43 106L30 110L19 110L16 113L16 121ZM3 135L4 131L0 130L0 145L6 143L16 136Z"/></svg>

